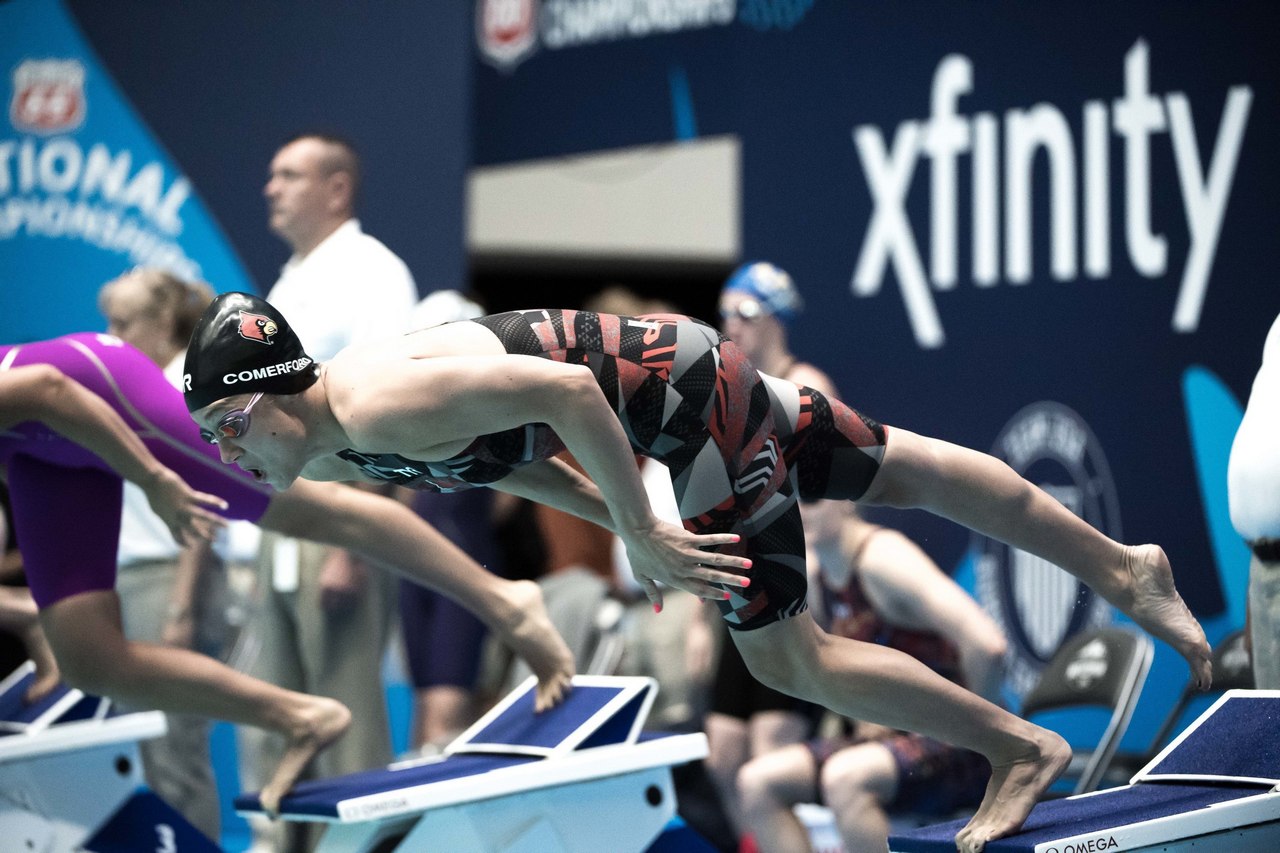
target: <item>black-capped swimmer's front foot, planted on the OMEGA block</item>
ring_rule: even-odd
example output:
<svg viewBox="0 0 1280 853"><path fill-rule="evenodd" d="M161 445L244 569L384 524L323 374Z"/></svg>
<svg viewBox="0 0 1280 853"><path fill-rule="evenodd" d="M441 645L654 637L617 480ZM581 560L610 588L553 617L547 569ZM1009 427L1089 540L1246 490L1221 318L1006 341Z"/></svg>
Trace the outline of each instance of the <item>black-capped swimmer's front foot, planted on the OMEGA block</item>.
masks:
<svg viewBox="0 0 1280 853"><path fill-rule="evenodd" d="M1039 795L1071 762L1071 747L1061 736L1032 726L1028 752L1007 762L992 761L991 781L973 820L956 834L956 849L978 853L997 838L1023 825Z"/></svg>

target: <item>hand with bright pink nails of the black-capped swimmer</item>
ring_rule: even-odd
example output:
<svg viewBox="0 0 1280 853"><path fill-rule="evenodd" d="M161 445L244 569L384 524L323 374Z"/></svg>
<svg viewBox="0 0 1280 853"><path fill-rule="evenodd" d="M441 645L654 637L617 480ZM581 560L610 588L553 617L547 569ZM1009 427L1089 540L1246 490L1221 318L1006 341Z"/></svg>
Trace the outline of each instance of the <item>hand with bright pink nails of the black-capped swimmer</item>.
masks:
<svg viewBox="0 0 1280 853"><path fill-rule="evenodd" d="M654 611L662 611L658 581L712 601L728 598L719 584L742 589L751 583L744 574L751 567L750 560L724 551L708 551L737 544L741 537L736 533L696 534L654 517L649 528L620 532L620 535L627 547L631 573Z"/></svg>

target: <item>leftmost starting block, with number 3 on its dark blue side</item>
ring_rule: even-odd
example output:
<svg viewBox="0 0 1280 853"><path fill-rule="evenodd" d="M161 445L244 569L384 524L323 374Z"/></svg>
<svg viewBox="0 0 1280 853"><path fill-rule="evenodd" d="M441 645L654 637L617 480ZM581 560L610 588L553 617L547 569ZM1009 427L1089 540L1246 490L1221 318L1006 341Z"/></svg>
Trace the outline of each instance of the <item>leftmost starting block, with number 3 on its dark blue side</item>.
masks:
<svg viewBox="0 0 1280 853"><path fill-rule="evenodd" d="M110 699L67 685L28 704L35 669L0 681L0 848L216 850L146 790L138 742L165 733L164 715L115 715Z"/></svg>

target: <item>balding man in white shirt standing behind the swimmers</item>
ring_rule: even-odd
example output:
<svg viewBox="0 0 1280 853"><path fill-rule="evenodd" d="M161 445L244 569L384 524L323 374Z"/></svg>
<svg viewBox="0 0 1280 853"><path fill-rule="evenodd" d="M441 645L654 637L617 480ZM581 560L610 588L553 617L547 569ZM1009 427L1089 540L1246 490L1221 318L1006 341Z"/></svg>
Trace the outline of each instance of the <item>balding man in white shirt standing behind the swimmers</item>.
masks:
<svg viewBox="0 0 1280 853"><path fill-rule="evenodd" d="M302 134L271 159L264 196L271 231L292 250L268 301L289 318L317 361L352 343L401 334L417 301L404 263L355 218L361 167L346 140ZM392 634L394 580L337 548L262 537L257 656L250 674L328 695L352 711L347 734L310 776L337 776L390 761L383 658ZM279 744L242 730L246 786L266 779ZM261 838L261 829L255 827ZM302 833L300 833L301 835ZM289 849L307 848L294 838Z"/></svg>

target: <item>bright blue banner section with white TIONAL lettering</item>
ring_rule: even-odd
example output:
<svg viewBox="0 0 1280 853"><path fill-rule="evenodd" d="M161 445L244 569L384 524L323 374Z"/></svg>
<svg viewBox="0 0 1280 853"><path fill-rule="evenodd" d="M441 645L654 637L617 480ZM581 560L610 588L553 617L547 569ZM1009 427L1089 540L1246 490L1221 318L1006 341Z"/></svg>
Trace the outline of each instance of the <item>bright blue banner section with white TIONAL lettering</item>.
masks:
<svg viewBox="0 0 1280 853"><path fill-rule="evenodd" d="M58 0L0 4L0 68L56 58L82 118L32 129L5 113L0 181L0 341L101 329L97 289L137 265L156 265L215 289L253 286L182 165L155 138L110 69ZM78 69L78 70L77 70ZM12 146L12 147L10 147Z"/></svg>

